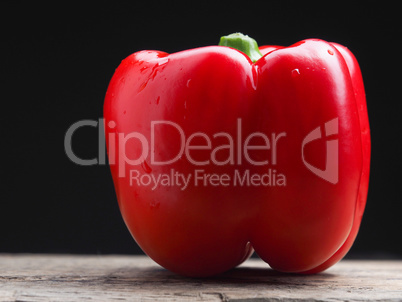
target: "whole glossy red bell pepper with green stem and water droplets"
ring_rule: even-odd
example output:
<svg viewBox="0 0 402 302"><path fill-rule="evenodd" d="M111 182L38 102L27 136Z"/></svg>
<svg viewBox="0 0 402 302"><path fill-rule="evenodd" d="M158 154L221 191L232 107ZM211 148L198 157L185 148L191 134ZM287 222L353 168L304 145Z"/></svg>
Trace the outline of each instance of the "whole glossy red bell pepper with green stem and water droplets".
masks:
<svg viewBox="0 0 402 302"><path fill-rule="evenodd" d="M253 250L279 271L320 272L350 249L363 215L370 132L358 63L308 39L122 61L104 104L123 219L143 251L188 276Z"/></svg>

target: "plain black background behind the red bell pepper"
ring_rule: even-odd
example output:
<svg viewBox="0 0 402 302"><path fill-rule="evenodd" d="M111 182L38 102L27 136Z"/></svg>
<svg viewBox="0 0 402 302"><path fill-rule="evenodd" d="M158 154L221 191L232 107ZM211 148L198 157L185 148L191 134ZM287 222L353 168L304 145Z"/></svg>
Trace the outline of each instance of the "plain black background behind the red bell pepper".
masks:
<svg viewBox="0 0 402 302"><path fill-rule="evenodd" d="M396 2L49 3L1 4L0 252L141 253L121 219L108 167L72 163L65 133L76 121L102 117L108 82L129 54L214 45L243 32L260 45L321 38L356 55L372 166L366 212L348 257L402 258ZM82 158L96 157L97 144L96 128L73 138Z"/></svg>

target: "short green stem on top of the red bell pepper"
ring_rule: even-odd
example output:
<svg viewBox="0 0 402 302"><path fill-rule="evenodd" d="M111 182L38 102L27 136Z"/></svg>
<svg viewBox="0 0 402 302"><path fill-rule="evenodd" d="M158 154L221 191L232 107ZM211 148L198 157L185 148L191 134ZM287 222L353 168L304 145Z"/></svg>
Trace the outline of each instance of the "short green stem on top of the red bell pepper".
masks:
<svg viewBox="0 0 402 302"><path fill-rule="evenodd" d="M245 53L253 63L262 57L257 42L242 33L234 33L221 37L219 46L228 46Z"/></svg>

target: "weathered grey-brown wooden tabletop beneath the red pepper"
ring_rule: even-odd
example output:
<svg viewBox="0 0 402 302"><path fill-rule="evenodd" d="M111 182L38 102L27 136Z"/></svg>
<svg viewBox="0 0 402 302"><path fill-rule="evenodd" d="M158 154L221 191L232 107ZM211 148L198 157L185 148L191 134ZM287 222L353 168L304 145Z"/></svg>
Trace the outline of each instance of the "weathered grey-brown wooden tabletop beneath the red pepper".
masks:
<svg viewBox="0 0 402 302"><path fill-rule="evenodd" d="M325 273L257 259L218 277L175 275L144 256L0 254L0 301L402 301L402 261L342 261Z"/></svg>

